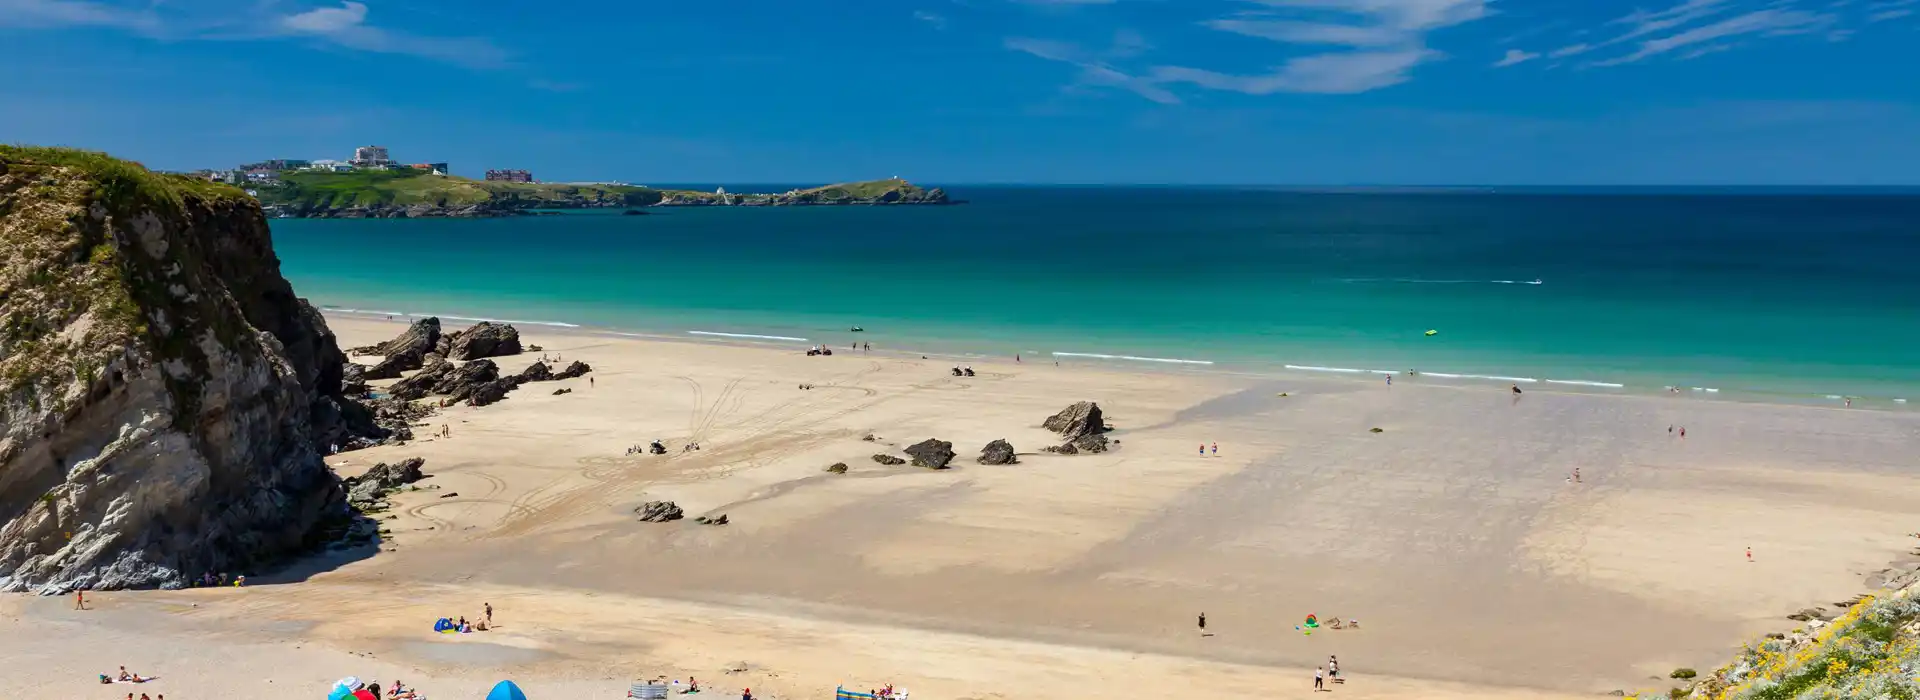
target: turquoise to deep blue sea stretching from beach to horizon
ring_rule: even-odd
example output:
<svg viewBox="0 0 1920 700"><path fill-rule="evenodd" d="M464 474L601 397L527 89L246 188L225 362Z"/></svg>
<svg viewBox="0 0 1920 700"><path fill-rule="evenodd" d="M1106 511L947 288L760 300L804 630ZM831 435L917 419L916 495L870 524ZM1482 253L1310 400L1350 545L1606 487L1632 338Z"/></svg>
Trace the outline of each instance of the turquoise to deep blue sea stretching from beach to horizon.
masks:
<svg viewBox="0 0 1920 700"><path fill-rule="evenodd" d="M952 192L972 203L273 230L336 309L1920 399L1912 194Z"/></svg>

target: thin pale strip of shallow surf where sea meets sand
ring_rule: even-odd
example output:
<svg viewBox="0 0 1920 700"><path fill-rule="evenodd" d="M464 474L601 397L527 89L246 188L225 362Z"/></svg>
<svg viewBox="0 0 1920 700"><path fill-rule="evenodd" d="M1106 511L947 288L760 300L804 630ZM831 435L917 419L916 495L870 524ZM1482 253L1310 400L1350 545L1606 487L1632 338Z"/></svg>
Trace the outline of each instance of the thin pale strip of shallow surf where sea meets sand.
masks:
<svg viewBox="0 0 1920 700"><path fill-rule="evenodd" d="M440 315L440 313L409 313L409 311L376 311L376 309L346 309L334 305L319 305L324 315L342 315L363 320L417 320L426 316L438 316L449 322L505 322L516 326L540 326L541 330L555 334L580 334L580 336L605 336L605 338L637 338L637 339L659 339L659 341L678 341L678 343L720 343L720 345L741 345L741 347L793 347L804 349L810 345L826 345L828 349L839 351L833 343L801 338L801 336L774 336L774 334L755 334L755 332L735 332L735 330L620 330L591 324L574 324L563 320L524 320L524 318L501 318L492 315ZM856 338L851 332L841 332L847 338ZM839 351L845 353L845 351ZM950 361L1004 361L1004 355L989 353L970 353L970 351L943 351L943 349L874 349L872 355L891 357L891 359L950 359ZM1912 410L1907 397L1895 395L1839 395L1839 393L1803 393L1803 391L1774 391L1774 389L1753 389L1753 387L1674 387L1674 385L1651 385L1651 384L1628 384L1615 380L1586 380L1586 378L1538 378L1521 374L1480 374L1480 372L1444 372L1444 370L1384 370L1384 368L1357 368L1357 366L1323 366L1323 364L1294 364L1294 362L1240 362L1240 361L1210 361L1210 359L1179 359L1179 357L1148 357L1148 355L1121 355L1121 353L1083 353L1083 351L1029 351L1023 357L1039 357L1041 362L1058 361L1062 366L1066 362L1083 366L1114 368L1123 372L1188 372L1188 374L1208 374L1208 376L1235 376L1235 378L1260 378L1260 380L1286 380L1286 378L1332 378L1346 382L1379 384L1386 376L1394 382L1407 385L1444 385L1461 389L1498 389L1500 385L1517 385L1524 391L1544 391L1544 393L1594 393L1594 395L1624 395L1624 397L1674 397L1674 399L1709 399L1709 401L1734 401L1734 403L1757 403L1757 405L1789 405L1789 407L1814 407L1814 408L1845 408L1845 410L1891 410L1905 412ZM1853 399L1853 405L1845 405L1845 399Z"/></svg>

